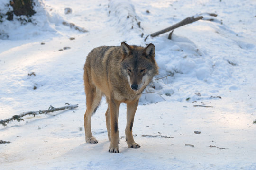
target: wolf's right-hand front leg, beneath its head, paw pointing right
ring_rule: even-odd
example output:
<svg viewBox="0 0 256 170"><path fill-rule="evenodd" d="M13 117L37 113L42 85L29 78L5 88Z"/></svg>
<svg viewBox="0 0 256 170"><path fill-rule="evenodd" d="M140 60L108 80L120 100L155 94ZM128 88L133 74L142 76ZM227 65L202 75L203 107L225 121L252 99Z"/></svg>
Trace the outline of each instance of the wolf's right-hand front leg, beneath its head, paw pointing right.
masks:
<svg viewBox="0 0 256 170"><path fill-rule="evenodd" d="M125 128L125 135L126 135L126 142L129 148L140 148L140 145L134 142L132 136L132 127L133 127L133 120L134 115L138 107L138 100L134 102L127 103L127 113L126 113L126 128Z"/></svg>

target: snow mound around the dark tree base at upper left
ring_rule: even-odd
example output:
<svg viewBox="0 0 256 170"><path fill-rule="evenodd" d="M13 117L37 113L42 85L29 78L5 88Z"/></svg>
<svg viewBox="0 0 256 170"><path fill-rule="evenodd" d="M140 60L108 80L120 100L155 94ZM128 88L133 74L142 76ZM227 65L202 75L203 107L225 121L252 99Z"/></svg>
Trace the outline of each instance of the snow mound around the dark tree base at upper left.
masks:
<svg viewBox="0 0 256 170"><path fill-rule="evenodd" d="M6 7L8 3L8 0L0 2L0 12L3 14L10 10ZM11 6L8 7L12 8ZM42 34L48 35L48 38L50 38L55 34L62 34L61 31L70 28L87 32L73 23L64 21L63 17L53 8L46 6L43 0L34 0L33 9L36 13L31 17L13 15L12 21L7 20L7 17L2 18L0 39L24 40L39 38Z"/></svg>

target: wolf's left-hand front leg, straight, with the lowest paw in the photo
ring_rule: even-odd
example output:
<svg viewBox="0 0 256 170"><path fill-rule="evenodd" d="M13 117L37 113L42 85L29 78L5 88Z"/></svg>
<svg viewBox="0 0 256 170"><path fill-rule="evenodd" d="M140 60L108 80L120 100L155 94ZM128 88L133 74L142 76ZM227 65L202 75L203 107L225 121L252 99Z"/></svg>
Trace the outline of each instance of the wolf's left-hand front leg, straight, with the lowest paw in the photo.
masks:
<svg viewBox="0 0 256 170"><path fill-rule="evenodd" d="M109 152L119 153L119 131L118 131L118 113L119 113L120 103L113 98L109 100L110 109L110 122L111 122L111 132L110 132L110 148Z"/></svg>

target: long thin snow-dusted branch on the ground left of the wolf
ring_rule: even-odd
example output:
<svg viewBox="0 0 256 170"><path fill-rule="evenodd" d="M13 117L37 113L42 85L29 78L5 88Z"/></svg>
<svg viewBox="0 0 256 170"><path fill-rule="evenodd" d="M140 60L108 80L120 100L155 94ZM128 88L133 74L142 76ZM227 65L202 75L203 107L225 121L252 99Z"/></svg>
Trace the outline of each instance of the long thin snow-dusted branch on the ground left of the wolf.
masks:
<svg viewBox="0 0 256 170"><path fill-rule="evenodd" d="M68 103L66 103L66 104L68 104ZM26 115L33 115L35 117L35 115L39 115L39 114L44 114L44 113L47 114L47 113L54 112L54 111L65 110L65 109L74 109L77 107L78 107L78 104L76 104L76 105L68 104L67 106L60 107L60 108L55 108L53 106L50 106L48 110L29 111L27 113L22 113L20 115L14 115L9 119L0 120L0 124L2 124L3 126L7 126L7 123L9 123L10 121L13 121L13 120L17 120L18 122L20 120L24 121L24 119L21 119L21 117L24 117Z"/></svg>

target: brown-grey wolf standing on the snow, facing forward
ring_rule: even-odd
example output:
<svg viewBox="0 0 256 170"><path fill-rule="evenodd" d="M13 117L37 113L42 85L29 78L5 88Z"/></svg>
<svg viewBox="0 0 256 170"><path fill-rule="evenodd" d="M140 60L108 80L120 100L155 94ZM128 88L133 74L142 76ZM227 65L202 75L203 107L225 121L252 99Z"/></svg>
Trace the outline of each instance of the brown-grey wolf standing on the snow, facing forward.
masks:
<svg viewBox="0 0 256 170"><path fill-rule="evenodd" d="M91 133L91 116L96 112L102 96L106 96L109 152L119 153L118 114L121 103L127 104L125 135L128 148L140 148L132 135L134 115L141 93L158 74L158 69L155 46L152 43L144 48L122 42L120 46L94 48L88 54L83 75L86 94L84 130L87 143L98 143Z"/></svg>

